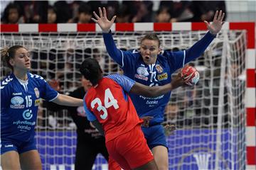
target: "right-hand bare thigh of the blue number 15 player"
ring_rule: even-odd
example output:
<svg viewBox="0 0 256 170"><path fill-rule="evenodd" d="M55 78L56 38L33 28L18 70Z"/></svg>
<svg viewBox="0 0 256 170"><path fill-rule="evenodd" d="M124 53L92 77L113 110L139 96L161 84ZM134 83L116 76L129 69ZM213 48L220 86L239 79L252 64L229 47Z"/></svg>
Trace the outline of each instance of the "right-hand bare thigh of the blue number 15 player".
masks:
<svg viewBox="0 0 256 170"><path fill-rule="evenodd" d="M20 155L21 169L42 169L42 163L37 150L30 150Z"/></svg>

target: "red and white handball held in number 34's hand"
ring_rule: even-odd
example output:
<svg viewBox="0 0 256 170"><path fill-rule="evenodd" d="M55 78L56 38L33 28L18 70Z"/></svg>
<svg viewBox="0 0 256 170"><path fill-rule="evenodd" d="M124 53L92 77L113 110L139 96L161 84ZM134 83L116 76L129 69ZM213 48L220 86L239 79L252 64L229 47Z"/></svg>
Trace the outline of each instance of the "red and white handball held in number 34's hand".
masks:
<svg viewBox="0 0 256 170"><path fill-rule="evenodd" d="M181 69L181 77L184 77L185 84L193 86L199 81L199 72L196 68L187 65Z"/></svg>

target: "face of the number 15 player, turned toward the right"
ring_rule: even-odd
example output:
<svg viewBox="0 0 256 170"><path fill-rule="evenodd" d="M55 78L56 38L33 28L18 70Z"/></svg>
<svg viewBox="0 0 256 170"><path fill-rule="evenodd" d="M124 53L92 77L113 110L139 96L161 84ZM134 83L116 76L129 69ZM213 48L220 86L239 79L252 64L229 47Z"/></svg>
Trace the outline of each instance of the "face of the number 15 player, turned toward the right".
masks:
<svg viewBox="0 0 256 170"><path fill-rule="evenodd" d="M28 71L31 68L30 54L25 48L16 50L14 59L10 60L10 64L14 69Z"/></svg>

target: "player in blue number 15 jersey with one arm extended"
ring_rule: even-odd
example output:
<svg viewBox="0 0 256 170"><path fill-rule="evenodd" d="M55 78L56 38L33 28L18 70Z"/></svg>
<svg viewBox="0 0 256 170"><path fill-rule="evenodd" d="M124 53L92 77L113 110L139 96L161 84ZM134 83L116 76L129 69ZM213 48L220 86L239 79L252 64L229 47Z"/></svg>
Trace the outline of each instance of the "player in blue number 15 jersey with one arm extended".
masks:
<svg viewBox="0 0 256 170"><path fill-rule="evenodd" d="M42 169L34 139L40 98L64 106L83 106L82 99L58 94L43 77L31 74L26 47L2 49L1 61L12 70L0 84L1 168Z"/></svg>

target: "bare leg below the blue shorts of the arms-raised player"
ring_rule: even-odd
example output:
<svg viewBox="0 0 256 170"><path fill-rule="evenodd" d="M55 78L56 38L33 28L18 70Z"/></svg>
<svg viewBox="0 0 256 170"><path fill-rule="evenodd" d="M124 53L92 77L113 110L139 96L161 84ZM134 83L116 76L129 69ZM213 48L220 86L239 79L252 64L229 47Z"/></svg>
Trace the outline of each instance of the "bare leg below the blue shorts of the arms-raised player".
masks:
<svg viewBox="0 0 256 170"><path fill-rule="evenodd" d="M156 146L152 149L154 159L159 170L169 169L168 150L164 146Z"/></svg>

